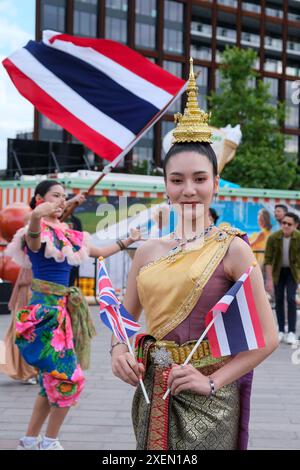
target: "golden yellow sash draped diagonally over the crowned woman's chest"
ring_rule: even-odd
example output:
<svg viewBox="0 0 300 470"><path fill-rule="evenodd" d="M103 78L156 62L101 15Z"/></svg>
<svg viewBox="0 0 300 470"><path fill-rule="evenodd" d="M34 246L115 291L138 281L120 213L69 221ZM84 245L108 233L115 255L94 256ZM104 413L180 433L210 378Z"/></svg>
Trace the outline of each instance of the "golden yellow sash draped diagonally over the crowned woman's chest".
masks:
<svg viewBox="0 0 300 470"><path fill-rule="evenodd" d="M140 270L137 288L149 335L161 340L188 317L230 243L242 234L222 228L201 247L169 254Z"/></svg>

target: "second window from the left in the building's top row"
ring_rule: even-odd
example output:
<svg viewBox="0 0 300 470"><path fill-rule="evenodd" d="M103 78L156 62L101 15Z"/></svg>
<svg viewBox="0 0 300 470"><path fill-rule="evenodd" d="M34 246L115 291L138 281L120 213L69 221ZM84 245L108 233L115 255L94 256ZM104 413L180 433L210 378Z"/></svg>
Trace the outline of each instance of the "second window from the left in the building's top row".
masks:
<svg viewBox="0 0 300 470"><path fill-rule="evenodd" d="M80 36L96 37L97 4L95 0L75 0L73 32Z"/></svg>

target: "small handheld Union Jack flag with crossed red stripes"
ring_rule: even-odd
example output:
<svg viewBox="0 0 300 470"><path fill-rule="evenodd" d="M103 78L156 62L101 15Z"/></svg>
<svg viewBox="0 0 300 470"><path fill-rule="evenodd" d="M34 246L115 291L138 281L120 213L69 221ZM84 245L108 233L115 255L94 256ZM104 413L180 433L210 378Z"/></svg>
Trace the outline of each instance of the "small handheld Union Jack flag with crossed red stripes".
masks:
<svg viewBox="0 0 300 470"><path fill-rule="evenodd" d="M130 338L139 331L141 326L117 298L102 260L99 260L98 292L100 318L119 341L126 341L126 335Z"/></svg>

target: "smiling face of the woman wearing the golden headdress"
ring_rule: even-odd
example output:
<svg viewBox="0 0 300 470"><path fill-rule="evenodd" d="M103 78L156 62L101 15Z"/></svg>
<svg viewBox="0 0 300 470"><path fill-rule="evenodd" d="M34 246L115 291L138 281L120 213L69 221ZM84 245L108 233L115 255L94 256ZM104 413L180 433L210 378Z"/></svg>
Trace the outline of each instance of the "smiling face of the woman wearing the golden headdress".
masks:
<svg viewBox="0 0 300 470"><path fill-rule="evenodd" d="M213 166L205 155L181 152L167 163L167 194L171 203L183 208L188 217L200 215L201 208L207 213L218 187L219 176L213 176Z"/></svg>

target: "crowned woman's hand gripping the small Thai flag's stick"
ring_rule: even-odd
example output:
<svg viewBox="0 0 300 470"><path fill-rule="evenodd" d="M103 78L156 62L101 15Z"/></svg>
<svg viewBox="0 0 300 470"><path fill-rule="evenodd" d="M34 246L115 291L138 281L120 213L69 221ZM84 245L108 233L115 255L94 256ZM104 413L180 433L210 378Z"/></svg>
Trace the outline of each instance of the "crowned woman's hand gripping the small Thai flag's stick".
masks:
<svg viewBox="0 0 300 470"><path fill-rule="evenodd" d="M186 366L173 364L169 374L168 387L171 389L172 395L178 395L184 390L206 396L211 393L208 378L191 364Z"/></svg>

